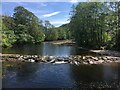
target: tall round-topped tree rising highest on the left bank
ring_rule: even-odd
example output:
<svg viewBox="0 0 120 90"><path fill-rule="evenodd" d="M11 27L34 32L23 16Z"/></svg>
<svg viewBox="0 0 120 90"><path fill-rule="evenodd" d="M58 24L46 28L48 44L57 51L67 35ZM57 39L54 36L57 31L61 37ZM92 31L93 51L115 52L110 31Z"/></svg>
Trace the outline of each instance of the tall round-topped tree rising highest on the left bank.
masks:
<svg viewBox="0 0 120 90"><path fill-rule="evenodd" d="M13 18L16 23L15 34L18 36L18 43L40 43L44 41L42 21L32 12L18 6L14 9Z"/></svg>

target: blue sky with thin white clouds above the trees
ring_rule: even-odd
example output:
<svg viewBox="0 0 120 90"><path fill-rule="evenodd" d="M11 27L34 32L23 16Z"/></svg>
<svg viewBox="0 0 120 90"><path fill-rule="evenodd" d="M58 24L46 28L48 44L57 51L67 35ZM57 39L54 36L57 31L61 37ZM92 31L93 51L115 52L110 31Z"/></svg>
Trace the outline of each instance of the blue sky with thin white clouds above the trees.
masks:
<svg viewBox="0 0 120 90"><path fill-rule="evenodd" d="M75 0L74 0L75 1ZM76 2L2 2L2 14L12 16L16 6L23 6L41 20L49 20L54 26L69 23L72 5Z"/></svg>

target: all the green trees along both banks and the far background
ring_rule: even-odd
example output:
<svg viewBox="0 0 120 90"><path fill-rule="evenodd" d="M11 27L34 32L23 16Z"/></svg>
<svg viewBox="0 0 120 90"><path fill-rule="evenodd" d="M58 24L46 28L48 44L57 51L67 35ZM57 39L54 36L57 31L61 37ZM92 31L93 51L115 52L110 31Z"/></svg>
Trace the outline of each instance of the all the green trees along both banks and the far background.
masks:
<svg viewBox="0 0 120 90"><path fill-rule="evenodd" d="M15 7L12 17L1 16L1 45L72 39L81 47L120 50L120 2L80 2L70 14L70 23L54 27L24 7Z"/></svg>

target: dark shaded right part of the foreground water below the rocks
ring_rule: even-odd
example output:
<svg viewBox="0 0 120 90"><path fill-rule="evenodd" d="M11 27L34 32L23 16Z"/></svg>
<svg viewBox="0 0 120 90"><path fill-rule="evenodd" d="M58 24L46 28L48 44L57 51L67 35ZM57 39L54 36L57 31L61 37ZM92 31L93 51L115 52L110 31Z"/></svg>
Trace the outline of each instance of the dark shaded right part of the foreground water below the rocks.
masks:
<svg viewBox="0 0 120 90"><path fill-rule="evenodd" d="M80 65L71 68L77 87L120 87L120 64Z"/></svg>

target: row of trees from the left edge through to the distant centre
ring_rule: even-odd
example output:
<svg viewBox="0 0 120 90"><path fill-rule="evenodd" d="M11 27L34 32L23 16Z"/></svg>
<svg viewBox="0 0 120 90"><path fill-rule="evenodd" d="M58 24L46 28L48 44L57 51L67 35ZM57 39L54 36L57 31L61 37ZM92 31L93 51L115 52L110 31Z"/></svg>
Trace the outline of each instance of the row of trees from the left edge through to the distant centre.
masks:
<svg viewBox="0 0 120 90"><path fill-rule="evenodd" d="M42 21L22 6L14 9L13 16L1 16L3 47L13 44L41 43L45 40L69 39L69 30L63 26L55 28L49 21Z"/></svg>

